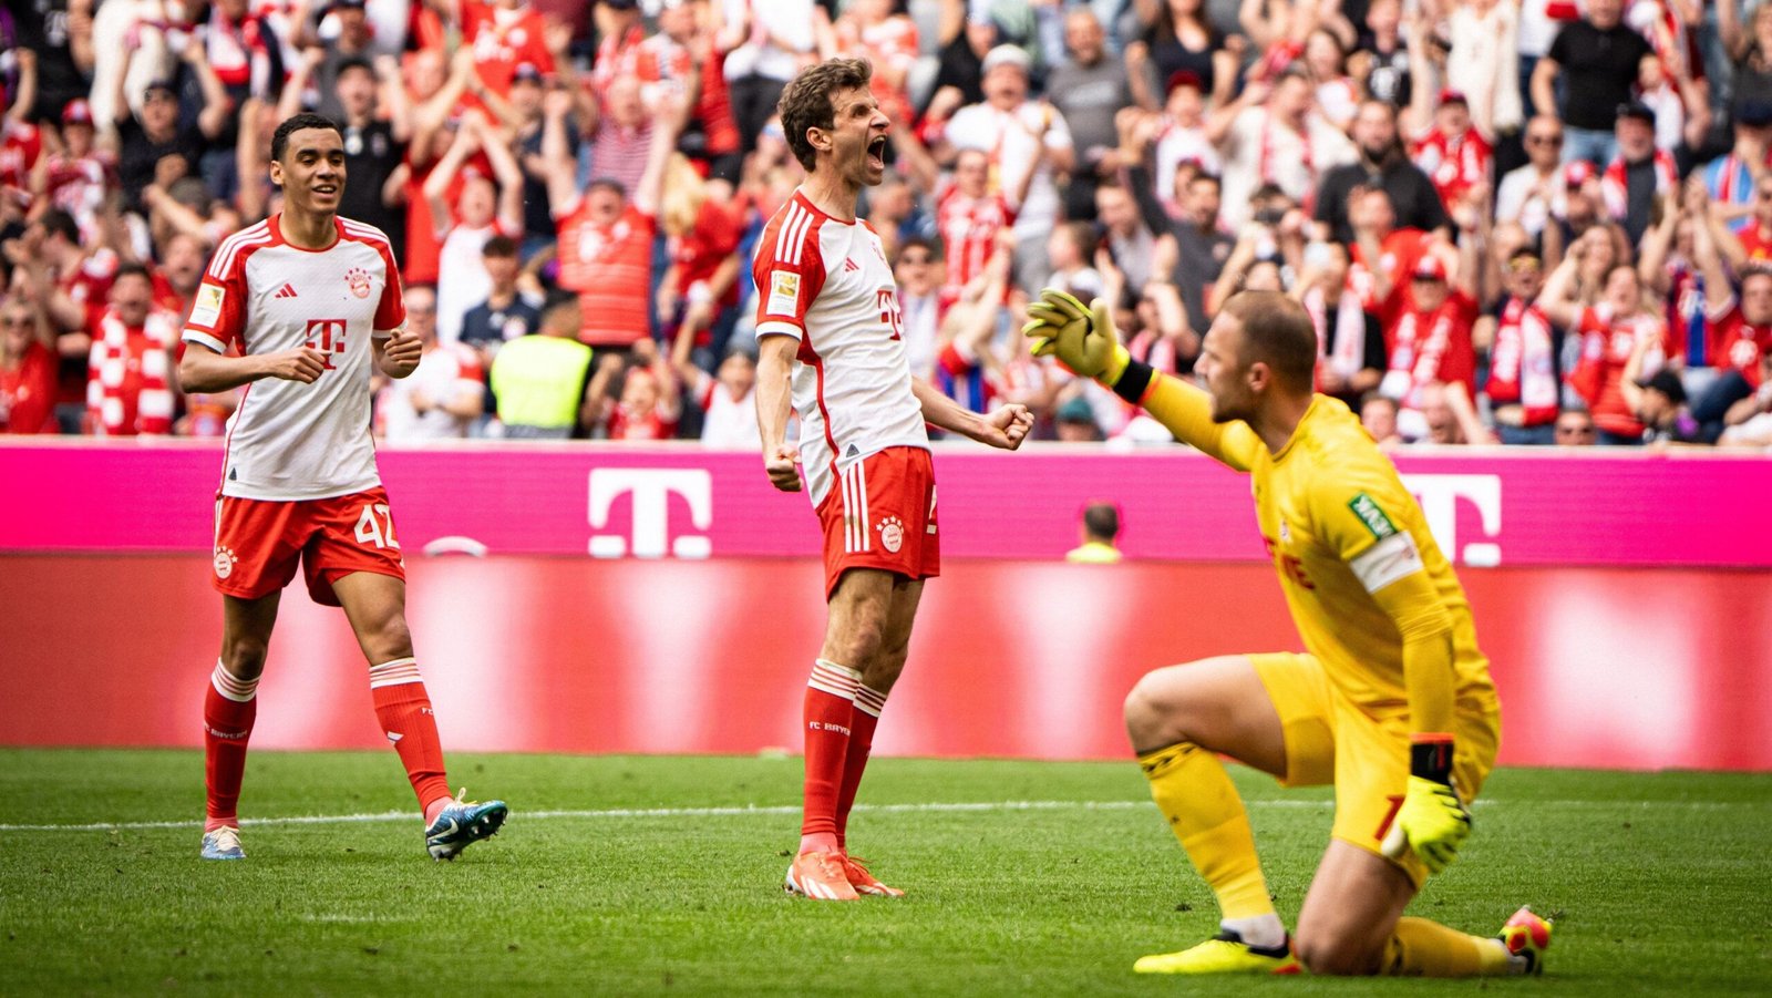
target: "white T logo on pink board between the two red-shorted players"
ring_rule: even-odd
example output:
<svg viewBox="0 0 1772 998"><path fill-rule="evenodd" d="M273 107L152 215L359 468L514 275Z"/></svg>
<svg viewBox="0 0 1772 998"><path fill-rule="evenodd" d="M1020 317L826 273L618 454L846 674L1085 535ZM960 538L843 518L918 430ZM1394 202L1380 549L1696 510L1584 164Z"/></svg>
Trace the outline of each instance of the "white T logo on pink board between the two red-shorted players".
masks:
<svg viewBox="0 0 1772 998"><path fill-rule="evenodd" d="M620 534L592 534L594 558L663 558L670 541L670 498L682 496L689 503L689 523L696 530L714 525L714 477L702 468L595 468L590 473L590 526L610 525L615 500L631 496L631 525L627 537ZM670 542L670 553L679 558L705 558L714 542L705 535L684 535Z"/></svg>

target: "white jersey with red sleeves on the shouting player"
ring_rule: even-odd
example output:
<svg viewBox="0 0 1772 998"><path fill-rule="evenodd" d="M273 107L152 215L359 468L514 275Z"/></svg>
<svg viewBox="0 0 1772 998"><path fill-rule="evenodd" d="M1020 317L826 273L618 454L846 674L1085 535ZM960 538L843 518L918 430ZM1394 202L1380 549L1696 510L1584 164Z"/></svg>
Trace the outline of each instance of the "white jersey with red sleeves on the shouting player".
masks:
<svg viewBox="0 0 1772 998"><path fill-rule="evenodd" d="M757 241L751 275L757 339L799 340L794 409L813 507L856 461L888 447L929 448L898 285L867 222L838 222L794 191Z"/></svg>

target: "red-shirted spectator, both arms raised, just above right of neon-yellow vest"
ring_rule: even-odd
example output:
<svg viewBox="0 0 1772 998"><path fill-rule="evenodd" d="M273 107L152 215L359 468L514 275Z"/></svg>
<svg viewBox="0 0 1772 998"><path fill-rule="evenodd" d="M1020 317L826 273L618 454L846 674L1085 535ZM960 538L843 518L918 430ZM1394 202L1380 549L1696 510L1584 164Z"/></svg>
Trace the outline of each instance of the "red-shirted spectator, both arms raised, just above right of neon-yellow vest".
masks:
<svg viewBox="0 0 1772 998"><path fill-rule="evenodd" d="M548 165L548 200L560 227L560 287L578 292L581 342L626 351L650 335L647 303L652 300L659 188L682 112L680 105L672 106L654 128L645 172L629 195L610 179L595 179L579 193L574 179L578 163L565 144L569 110L567 94L548 94L542 160Z"/></svg>

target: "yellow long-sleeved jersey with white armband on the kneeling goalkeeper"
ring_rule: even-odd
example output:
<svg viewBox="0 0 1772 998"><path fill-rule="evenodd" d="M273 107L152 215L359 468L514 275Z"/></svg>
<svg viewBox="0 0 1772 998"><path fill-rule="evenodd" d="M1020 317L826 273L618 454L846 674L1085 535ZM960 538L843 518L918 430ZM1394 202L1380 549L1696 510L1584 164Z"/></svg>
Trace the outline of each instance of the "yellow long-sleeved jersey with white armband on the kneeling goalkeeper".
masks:
<svg viewBox="0 0 1772 998"><path fill-rule="evenodd" d="M1279 452L1247 424L1214 424L1207 394L1184 381L1159 376L1145 406L1178 440L1249 473L1292 620L1338 690L1373 714L1407 711L1405 645L1425 635L1418 661L1432 674L1414 690L1449 691L1451 702L1437 693L1441 706L1418 713L1442 716L1418 716L1414 729L1449 730L1448 709L1497 709L1464 587L1396 466L1345 404L1317 395Z"/></svg>

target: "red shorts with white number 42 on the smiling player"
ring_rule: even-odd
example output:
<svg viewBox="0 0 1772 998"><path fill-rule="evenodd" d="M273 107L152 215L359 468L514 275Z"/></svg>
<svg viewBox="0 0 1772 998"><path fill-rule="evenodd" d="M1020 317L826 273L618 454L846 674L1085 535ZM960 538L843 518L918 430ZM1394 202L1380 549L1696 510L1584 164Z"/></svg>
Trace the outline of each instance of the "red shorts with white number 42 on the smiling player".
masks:
<svg viewBox="0 0 1772 998"><path fill-rule="evenodd" d="M314 603L338 606L331 583L351 573L406 578L383 487L326 500L216 496L214 587L259 599L296 578L301 562Z"/></svg>

